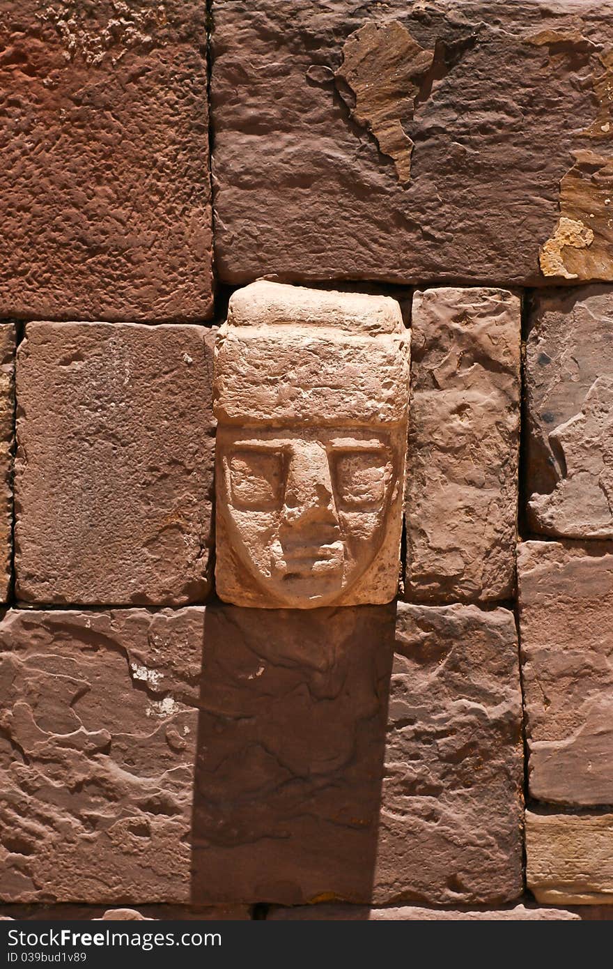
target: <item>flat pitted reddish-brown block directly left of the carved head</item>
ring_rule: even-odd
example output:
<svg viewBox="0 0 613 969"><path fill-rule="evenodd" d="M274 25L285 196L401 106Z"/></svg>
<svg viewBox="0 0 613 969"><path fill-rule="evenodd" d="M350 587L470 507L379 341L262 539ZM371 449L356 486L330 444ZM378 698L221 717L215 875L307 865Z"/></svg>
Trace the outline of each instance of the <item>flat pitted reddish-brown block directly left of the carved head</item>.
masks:
<svg viewBox="0 0 613 969"><path fill-rule="evenodd" d="M18 599L205 597L213 336L193 326L27 325L16 378Z"/></svg>

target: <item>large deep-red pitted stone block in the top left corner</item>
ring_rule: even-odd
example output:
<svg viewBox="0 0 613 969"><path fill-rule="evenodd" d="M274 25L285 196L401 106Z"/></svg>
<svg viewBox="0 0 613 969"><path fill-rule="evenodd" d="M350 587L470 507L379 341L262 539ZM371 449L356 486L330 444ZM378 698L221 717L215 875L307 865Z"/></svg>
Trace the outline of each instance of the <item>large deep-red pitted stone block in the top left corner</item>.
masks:
<svg viewBox="0 0 613 969"><path fill-rule="evenodd" d="M205 3L0 11L0 316L208 317Z"/></svg>

